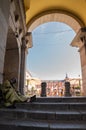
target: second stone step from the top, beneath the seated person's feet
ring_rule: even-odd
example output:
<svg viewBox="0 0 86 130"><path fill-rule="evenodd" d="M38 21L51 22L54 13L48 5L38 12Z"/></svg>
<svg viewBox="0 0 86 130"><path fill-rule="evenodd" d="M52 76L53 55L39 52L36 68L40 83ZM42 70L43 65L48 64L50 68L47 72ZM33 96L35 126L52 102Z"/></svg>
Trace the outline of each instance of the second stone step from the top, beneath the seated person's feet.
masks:
<svg viewBox="0 0 86 130"><path fill-rule="evenodd" d="M86 110L86 103L72 102L33 102L33 103L17 103L16 108L28 110Z"/></svg>

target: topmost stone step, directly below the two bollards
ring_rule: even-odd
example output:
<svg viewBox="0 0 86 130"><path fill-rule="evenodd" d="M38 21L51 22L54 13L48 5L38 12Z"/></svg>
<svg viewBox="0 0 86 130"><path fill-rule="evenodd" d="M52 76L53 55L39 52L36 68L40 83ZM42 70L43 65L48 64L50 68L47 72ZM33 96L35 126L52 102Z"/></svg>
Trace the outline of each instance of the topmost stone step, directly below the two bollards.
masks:
<svg viewBox="0 0 86 130"><path fill-rule="evenodd" d="M86 102L86 97L37 97L36 102Z"/></svg>

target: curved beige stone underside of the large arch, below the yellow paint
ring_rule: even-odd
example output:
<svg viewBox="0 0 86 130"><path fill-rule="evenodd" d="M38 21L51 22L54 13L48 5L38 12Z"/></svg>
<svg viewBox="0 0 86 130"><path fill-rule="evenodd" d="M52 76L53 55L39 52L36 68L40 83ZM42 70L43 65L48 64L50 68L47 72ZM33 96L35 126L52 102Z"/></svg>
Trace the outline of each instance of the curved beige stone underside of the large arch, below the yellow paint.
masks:
<svg viewBox="0 0 86 130"><path fill-rule="evenodd" d="M81 25L71 16L63 13L51 12L49 14L45 14L34 21L30 22L28 25L28 31L32 32L37 26L46 23L46 22L63 22L69 25L76 33L81 28Z"/></svg>

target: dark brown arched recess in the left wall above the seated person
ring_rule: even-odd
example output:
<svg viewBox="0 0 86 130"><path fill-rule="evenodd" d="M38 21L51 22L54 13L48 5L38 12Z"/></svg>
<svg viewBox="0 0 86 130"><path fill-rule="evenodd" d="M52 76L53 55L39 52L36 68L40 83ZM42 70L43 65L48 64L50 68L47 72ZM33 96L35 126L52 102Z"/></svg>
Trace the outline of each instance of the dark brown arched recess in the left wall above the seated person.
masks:
<svg viewBox="0 0 86 130"><path fill-rule="evenodd" d="M4 59L4 77L3 80L17 78L17 87L19 86L19 48L16 36L13 30L8 28L5 59Z"/></svg>

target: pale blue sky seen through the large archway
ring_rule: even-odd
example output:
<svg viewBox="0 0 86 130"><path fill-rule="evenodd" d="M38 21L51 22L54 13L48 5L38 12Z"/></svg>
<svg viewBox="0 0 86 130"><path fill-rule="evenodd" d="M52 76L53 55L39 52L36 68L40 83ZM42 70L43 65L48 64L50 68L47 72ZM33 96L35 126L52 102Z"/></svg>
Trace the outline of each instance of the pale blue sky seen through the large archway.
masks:
<svg viewBox="0 0 86 130"><path fill-rule="evenodd" d="M49 22L32 32L33 47L28 50L27 70L41 80L81 77L78 48L70 46L75 32L67 24Z"/></svg>

